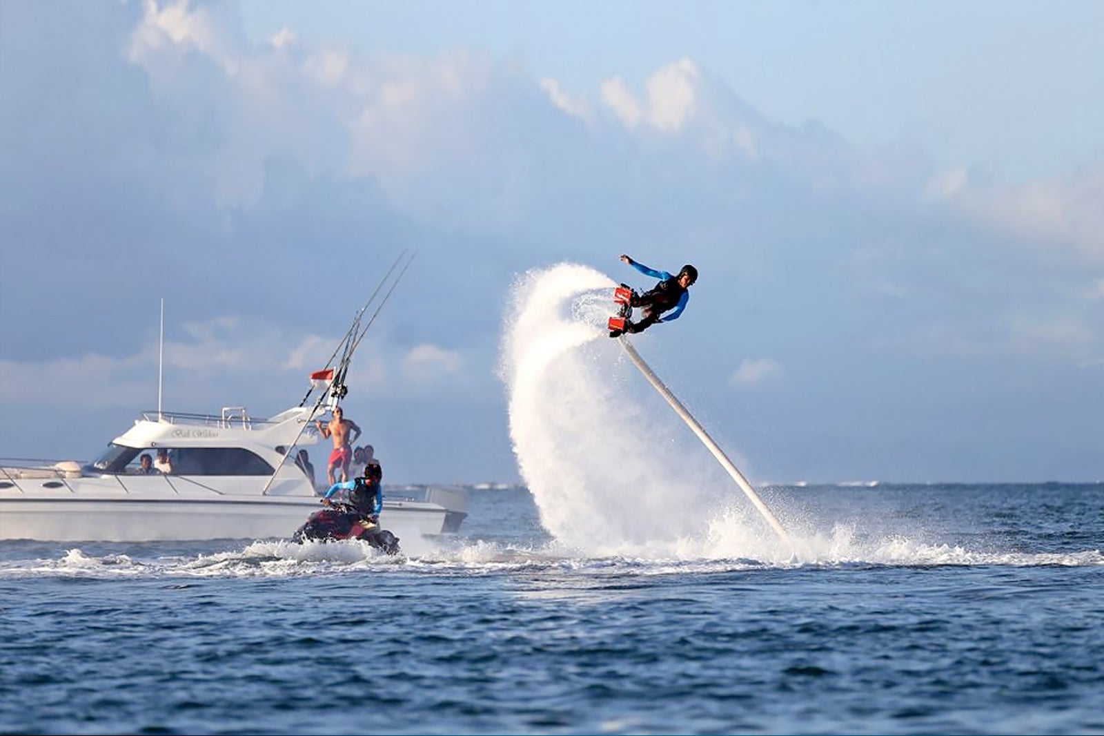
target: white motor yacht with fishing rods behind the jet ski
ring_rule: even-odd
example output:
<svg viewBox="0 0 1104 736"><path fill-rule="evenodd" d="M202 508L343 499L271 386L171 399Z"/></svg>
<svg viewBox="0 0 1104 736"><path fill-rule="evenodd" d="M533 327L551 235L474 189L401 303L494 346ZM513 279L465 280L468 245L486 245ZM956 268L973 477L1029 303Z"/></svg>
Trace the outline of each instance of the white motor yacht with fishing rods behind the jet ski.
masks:
<svg viewBox="0 0 1104 736"><path fill-rule="evenodd" d="M299 464L319 442L309 407L270 419L244 408L219 416L147 412L91 463L0 467L0 539L146 542L287 538L325 492ZM328 450L327 445L321 445ZM144 470L167 450L171 471ZM290 452L290 455L286 453ZM381 524L403 535L456 532L467 516L463 488L405 486Z"/></svg>

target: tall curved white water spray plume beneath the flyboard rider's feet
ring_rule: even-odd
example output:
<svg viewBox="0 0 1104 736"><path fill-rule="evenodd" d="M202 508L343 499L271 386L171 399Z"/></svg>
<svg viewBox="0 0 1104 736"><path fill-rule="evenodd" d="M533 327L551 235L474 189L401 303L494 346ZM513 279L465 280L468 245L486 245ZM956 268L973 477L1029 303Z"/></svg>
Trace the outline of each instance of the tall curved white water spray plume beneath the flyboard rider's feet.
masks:
<svg viewBox="0 0 1104 736"><path fill-rule="evenodd" d="M608 338L615 285L577 264L516 282L500 375L519 470L542 524L564 545L701 555L711 517L731 505L731 483L718 480ZM762 545L760 530L747 536Z"/></svg>

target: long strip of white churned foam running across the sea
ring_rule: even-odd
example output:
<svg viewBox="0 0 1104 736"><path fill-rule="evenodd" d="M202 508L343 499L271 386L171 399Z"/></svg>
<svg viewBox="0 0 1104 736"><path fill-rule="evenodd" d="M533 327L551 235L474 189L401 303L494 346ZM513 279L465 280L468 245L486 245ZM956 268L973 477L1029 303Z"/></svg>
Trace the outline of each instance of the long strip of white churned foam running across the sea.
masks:
<svg viewBox="0 0 1104 736"><path fill-rule="evenodd" d="M723 526L723 523L721 524ZM740 536L741 539L745 537ZM772 543L773 544L773 543ZM20 578L173 579L290 578L330 575L460 575L572 571L580 575L657 576L722 574L741 570L809 570L853 567L1102 567L1100 549L1063 553L976 551L960 545L921 543L906 537L856 540L846 527L800 539L788 554L772 544L734 544L722 532L704 540L624 546L593 556L553 540L544 545L507 545L455 539L418 556L388 557L359 542L255 542L241 549L191 556L150 556L71 548L55 558L0 561L0 580Z"/></svg>

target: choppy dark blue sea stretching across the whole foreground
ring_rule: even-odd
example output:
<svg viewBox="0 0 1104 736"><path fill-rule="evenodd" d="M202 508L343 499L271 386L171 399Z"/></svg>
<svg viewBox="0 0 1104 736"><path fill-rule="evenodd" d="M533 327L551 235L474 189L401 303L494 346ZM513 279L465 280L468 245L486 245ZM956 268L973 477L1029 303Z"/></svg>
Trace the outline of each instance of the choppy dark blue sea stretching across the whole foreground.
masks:
<svg viewBox="0 0 1104 736"><path fill-rule="evenodd" d="M526 488L397 558L0 542L0 732L1104 733L1104 484L763 496L762 555L567 548Z"/></svg>

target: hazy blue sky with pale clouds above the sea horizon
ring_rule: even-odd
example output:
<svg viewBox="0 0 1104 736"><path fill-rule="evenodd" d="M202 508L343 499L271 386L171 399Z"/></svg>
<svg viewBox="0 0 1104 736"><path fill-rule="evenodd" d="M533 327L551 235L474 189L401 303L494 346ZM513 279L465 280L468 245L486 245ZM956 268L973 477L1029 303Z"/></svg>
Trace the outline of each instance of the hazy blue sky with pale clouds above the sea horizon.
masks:
<svg viewBox="0 0 1104 736"><path fill-rule="evenodd" d="M633 281L629 252L701 270L640 347L753 480L1101 480L1102 31L1096 2L6 0L0 455L155 408L162 297L166 408L297 402L411 249L347 412L389 481L512 481L511 283Z"/></svg>

